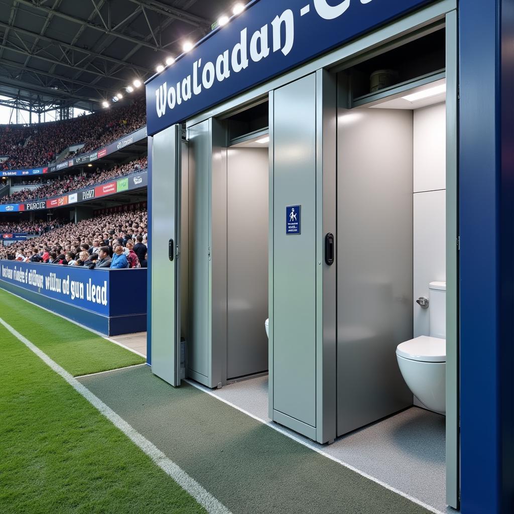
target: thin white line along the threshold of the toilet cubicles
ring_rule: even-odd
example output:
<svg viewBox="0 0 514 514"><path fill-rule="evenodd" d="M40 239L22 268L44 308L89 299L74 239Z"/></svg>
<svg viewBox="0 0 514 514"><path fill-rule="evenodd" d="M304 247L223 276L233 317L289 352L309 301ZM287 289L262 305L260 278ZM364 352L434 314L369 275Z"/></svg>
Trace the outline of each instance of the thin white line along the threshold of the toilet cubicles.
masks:
<svg viewBox="0 0 514 514"><path fill-rule="evenodd" d="M372 482L375 482L378 485L381 485L382 487L385 487L386 489L389 489L390 491L395 492L396 494L399 494L403 498L410 500L411 502L419 505L420 507L424 507L427 510L429 510L430 512L433 512L434 514L445 514L444 512L436 509L435 507L432 507L432 505L428 505L427 503L422 502L421 500L418 500L417 498L414 498L410 494L400 491L399 489L396 489L395 487L387 484L386 482L382 482L380 479L375 478L374 476L366 473L365 471L361 471L360 469L357 469L356 467L352 466L351 464L341 461L337 457L334 457L333 455L321 450L314 444L309 443L307 440L303 439L301 436L291 434L285 428L281 427L280 425L277 425L276 423L273 423L273 421L270 421L270 420L267 421L265 419L260 418L259 416L255 416L251 412L245 411L244 409L242 409L241 407L238 407L231 401L228 401L225 398L219 397L211 389L209 389L205 386L202 386L201 384L194 382L193 380L190 380L190 379L185 379L185 382L187 382L191 386L195 387L196 389L199 389L200 391L203 391L204 393L207 393L207 394L213 396L214 398L218 399L219 401L223 401L223 403L226 403L228 406L230 406L234 409L237 409L238 411L242 412L243 414L246 414L247 416L250 416L251 418L255 419L256 421L259 421L260 423L262 423L263 425L267 425L268 427L272 428L273 430L276 430L277 432L280 432L281 434L286 435L290 439L295 440L297 443L300 443L301 445L306 446L307 448L310 448L311 450L314 450L315 452L319 453L320 455L323 455L324 457L329 458L331 461L337 462L341 466L344 466L345 468L355 471L356 473L363 476L364 478L371 480Z"/></svg>

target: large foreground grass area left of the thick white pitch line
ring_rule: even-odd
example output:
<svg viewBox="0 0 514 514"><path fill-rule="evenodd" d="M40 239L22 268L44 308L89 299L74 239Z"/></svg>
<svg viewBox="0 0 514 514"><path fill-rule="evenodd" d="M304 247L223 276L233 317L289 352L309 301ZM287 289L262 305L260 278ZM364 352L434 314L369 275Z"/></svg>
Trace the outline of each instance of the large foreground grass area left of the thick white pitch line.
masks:
<svg viewBox="0 0 514 514"><path fill-rule="evenodd" d="M205 512L3 326L0 348L2 514Z"/></svg>

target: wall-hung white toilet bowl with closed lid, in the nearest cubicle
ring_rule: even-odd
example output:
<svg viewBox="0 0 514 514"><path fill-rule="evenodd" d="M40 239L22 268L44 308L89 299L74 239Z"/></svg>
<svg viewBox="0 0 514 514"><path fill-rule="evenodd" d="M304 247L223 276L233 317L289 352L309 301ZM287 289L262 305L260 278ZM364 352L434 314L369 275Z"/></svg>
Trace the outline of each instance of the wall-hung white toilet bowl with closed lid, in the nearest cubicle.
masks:
<svg viewBox="0 0 514 514"><path fill-rule="evenodd" d="M396 359L403 380L429 409L446 413L446 339L419 336L400 343Z"/></svg>

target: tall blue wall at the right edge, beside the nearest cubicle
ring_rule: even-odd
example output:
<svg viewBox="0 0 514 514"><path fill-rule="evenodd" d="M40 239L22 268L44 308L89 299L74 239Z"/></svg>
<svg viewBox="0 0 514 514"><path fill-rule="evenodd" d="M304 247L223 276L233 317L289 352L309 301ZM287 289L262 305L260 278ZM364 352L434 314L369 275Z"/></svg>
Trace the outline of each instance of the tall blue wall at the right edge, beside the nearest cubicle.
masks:
<svg viewBox="0 0 514 514"><path fill-rule="evenodd" d="M514 512L514 11L460 3L463 514Z"/></svg>

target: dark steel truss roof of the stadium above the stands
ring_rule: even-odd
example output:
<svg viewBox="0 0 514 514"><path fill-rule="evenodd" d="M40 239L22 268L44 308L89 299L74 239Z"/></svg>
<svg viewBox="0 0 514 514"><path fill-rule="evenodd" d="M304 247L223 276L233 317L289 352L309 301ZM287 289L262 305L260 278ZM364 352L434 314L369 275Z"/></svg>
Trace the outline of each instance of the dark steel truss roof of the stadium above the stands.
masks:
<svg viewBox="0 0 514 514"><path fill-rule="evenodd" d="M0 0L0 96L12 99L0 103L96 110L201 39L235 3Z"/></svg>

